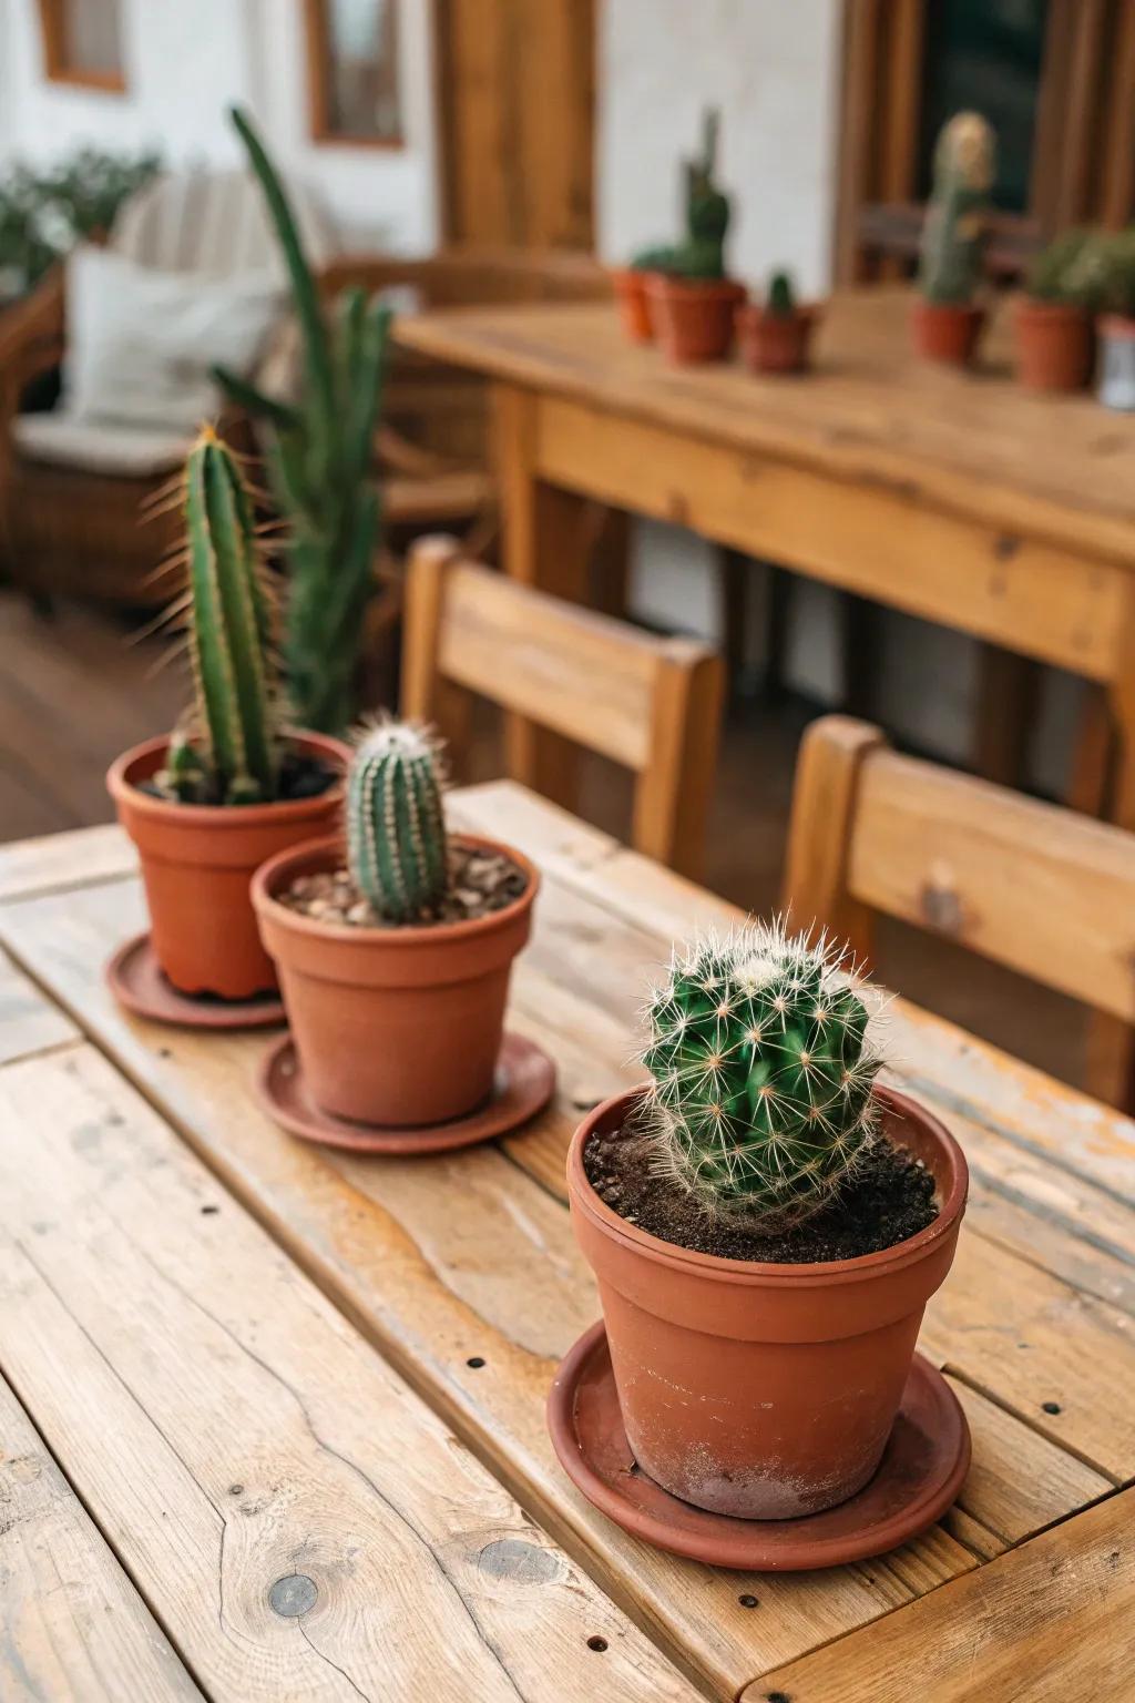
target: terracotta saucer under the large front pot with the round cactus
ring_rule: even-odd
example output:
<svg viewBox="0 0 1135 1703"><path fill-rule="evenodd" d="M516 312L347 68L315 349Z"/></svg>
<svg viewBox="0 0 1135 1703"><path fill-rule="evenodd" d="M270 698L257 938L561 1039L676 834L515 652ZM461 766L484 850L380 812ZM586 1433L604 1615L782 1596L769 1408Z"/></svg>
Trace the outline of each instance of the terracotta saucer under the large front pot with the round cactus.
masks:
<svg viewBox="0 0 1135 1703"><path fill-rule="evenodd" d="M915 1354L880 1468L858 1495L801 1519L708 1514L635 1465L602 1320L563 1359L548 1396L548 1429L572 1483L616 1526L674 1555L742 1572L798 1572L885 1555L946 1512L970 1468L970 1431L958 1398Z"/></svg>

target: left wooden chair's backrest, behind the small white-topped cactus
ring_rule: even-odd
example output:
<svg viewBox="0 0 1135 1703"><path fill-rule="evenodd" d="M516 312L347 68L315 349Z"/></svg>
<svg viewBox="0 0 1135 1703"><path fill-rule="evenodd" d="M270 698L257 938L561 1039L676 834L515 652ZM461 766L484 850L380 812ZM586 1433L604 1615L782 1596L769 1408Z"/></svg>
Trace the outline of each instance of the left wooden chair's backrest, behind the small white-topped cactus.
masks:
<svg viewBox="0 0 1135 1703"><path fill-rule="evenodd" d="M407 574L403 712L448 727L454 688L633 770L635 846L698 869L723 693L710 645L638 632L424 538Z"/></svg>

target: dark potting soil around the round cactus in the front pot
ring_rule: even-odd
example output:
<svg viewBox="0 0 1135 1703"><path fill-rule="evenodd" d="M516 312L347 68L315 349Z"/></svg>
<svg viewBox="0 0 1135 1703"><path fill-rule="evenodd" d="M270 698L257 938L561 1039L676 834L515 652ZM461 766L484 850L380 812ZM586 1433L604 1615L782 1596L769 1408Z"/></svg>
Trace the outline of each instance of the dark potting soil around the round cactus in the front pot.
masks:
<svg viewBox="0 0 1135 1703"><path fill-rule="evenodd" d="M723 1260L803 1265L851 1260L905 1241L938 1218L934 1178L907 1148L876 1138L861 1168L803 1224L774 1233L706 1218L696 1199L652 1168L650 1138L592 1134L584 1170L596 1194L662 1241Z"/></svg>

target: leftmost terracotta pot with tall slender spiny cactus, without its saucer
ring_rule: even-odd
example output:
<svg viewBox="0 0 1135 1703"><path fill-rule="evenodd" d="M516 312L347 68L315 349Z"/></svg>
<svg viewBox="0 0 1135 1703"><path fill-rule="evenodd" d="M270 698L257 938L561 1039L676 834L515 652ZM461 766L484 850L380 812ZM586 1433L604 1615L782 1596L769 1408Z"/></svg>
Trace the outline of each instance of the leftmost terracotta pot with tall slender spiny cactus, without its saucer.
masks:
<svg viewBox="0 0 1135 1703"><path fill-rule="evenodd" d="M151 947L180 993L248 1000L276 986L248 896L257 863L328 828L345 748L293 732L274 664L274 606L248 492L211 427L184 479L194 702L179 729L126 751L107 785L138 846Z"/></svg>

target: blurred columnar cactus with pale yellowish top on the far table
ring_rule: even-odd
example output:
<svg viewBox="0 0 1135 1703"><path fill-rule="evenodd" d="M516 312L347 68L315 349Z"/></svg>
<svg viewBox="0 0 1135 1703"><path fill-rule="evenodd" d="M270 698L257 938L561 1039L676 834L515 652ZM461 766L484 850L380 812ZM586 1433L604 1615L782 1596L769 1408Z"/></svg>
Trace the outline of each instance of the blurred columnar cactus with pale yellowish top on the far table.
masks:
<svg viewBox="0 0 1135 1703"><path fill-rule="evenodd" d="M927 301L968 303L982 278L995 141L977 112L956 112L934 148L919 286Z"/></svg>

